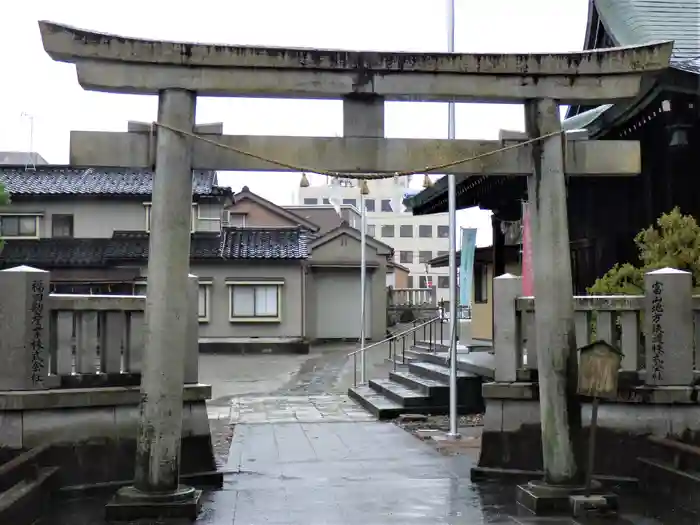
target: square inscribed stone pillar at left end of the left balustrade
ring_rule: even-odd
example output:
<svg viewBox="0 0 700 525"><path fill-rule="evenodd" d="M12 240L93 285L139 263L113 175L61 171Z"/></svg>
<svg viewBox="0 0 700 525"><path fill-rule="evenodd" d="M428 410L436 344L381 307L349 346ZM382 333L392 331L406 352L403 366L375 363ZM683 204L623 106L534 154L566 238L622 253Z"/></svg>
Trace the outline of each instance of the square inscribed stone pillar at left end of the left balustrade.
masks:
<svg viewBox="0 0 700 525"><path fill-rule="evenodd" d="M0 390L49 387L49 276L29 266L0 271Z"/></svg>

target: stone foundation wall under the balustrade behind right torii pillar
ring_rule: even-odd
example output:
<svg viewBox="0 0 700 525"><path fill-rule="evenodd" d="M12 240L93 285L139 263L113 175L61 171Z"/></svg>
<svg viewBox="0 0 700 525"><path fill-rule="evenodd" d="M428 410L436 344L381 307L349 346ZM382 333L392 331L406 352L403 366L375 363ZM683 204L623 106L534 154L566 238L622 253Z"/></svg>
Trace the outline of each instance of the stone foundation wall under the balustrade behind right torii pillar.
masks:
<svg viewBox="0 0 700 525"><path fill-rule="evenodd" d="M541 471L540 408L536 384L484 385L486 413L479 467ZM495 398L494 394L503 397ZM510 394L511 398L504 398ZM596 431L595 473L615 477L639 476L638 457L656 457L650 435L674 437L700 445L700 406L689 387L638 388L615 402L601 402ZM587 450L590 404L582 408L582 450Z"/></svg>

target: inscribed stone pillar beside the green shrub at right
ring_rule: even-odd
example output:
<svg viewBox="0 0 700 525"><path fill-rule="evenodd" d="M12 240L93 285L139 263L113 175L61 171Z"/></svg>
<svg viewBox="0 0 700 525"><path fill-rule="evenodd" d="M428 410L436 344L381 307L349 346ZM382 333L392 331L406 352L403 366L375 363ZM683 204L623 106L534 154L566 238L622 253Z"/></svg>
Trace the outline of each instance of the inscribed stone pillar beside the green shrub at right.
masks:
<svg viewBox="0 0 700 525"><path fill-rule="evenodd" d="M692 293L690 272L662 268L644 276L647 385L693 383Z"/></svg>

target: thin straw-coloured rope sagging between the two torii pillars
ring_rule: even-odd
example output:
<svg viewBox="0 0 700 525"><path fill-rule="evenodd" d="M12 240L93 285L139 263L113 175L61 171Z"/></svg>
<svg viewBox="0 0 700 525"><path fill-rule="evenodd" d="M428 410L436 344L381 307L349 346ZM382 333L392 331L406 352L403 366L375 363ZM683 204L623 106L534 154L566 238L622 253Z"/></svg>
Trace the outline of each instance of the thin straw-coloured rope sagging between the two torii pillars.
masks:
<svg viewBox="0 0 700 525"><path fill-rule="evenodd" d="M288 162L283 162L283 161L276 160L276 159L269 159L269 158L263 157L261 155L257 155L255 153L252 153L250 151L245 151L245 150L236 148L234 146L230 146L228 144L222 144L221 142L217 142L217 141L212 140L208 137L203 137L202 135L197 135L196 133L192 133L191 131L185 131L184 129L174 128L174 127L169 126L167 124L163 124L160 122L153 122L153 125L156 127L167 129L167 130L172 131L174 133L179 133L180 135L184 135L186 137L191 137L193 139L197 139L197 140L200 140L202 142L206 142L207 144L211 144L212 146L216 146L218 148L233 151L235 153L238 153L240 155L244 155L246 157L250 157L250 158L260 160L263 162L268 162L270 164L275 164L275 165L280 166L282 168L287 168L291 171L298 171L298 172L303 172L303 173L318 173L319 175L326 175L328 177L340 177L340 178L344 178L344 179L357 179L357 180L391 179L393 177L407 177L409 175L420 175L420 174L424 174L424 173L442 171L442 170L445 170L447 168L452 168L454 166L457 166L459 164L465 164L467 162L480 160L480 159L495 155L497 153L503 153L505 151L509 151L512 149L527 146L529 144L534 144L535 142L539 142L539 141L542 141L544 139L554 137L555 135L561 135L561 134L565 133L565 131L563 129L558 130L558 131L553 131L551 133L546 133L545 135L541 135L541 136L535 137L533 139L528 139L528 140L525 140L523 142L516 142L513 144L509 144L507 146L503 146L503 147L495 149L493 151L486 151L484 153L479 153L479 154L473 155L471 157L466 157L466 158L462 158L462 159L458 159L458 160L454 160L454 161L450 161L450 162L445 162L443 164L436 164L434 166L426 166L424 168L415 169L415 170L395 171L392 173L346 173L346 172L329 171L329 170L324 170L324 169L311 168L309 166L295 166L294 164L289 164Z"/></svg>

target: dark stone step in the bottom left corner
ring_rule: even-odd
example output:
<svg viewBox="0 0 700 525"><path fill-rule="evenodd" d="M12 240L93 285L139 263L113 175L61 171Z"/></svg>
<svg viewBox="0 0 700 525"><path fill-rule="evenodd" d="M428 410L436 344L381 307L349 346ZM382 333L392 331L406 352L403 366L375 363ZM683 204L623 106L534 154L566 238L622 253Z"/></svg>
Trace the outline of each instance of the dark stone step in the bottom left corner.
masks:
<svg viewBox="0 0 700 525"><path fill-rule="evenodd" d="M43 467L36 476L23 479L0 493L0 523L30 525L48 509L51 480L58 467Z"/></svg>

